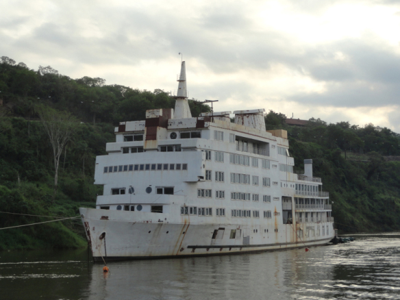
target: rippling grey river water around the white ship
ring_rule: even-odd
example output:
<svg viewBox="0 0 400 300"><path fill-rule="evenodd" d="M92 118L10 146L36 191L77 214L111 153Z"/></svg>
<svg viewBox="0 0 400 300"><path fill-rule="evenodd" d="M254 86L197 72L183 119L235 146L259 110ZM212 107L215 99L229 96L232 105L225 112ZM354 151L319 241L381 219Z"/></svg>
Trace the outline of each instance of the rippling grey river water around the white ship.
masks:
<svg viewBox="0 0 400 300"><path fill-rule="evenodd" d="M111 262L0 252L0 299L400 299L400 233L251 255Z"/></svg>

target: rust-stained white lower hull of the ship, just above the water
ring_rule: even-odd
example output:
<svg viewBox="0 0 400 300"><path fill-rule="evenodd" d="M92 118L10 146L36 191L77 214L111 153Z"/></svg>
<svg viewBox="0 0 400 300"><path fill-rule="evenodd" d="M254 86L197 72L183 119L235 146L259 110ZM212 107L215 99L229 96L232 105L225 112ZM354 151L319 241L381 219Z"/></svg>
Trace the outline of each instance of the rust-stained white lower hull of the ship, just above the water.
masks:
<svg viewBox="0 0 400 300"><path fill-rule="evenodd" d="M268 232L260 225L254 232L254 227L237 224L164 223L140 212L81 208L80 213L95 261L277 251L325 245L334 238L332 223L323 224L329 226L329 235L297 238L295 229L305 224L275 225ZM213 239L216 229L220 234ZM230 238L231 229L240 229L241 236Z"/></svg>

